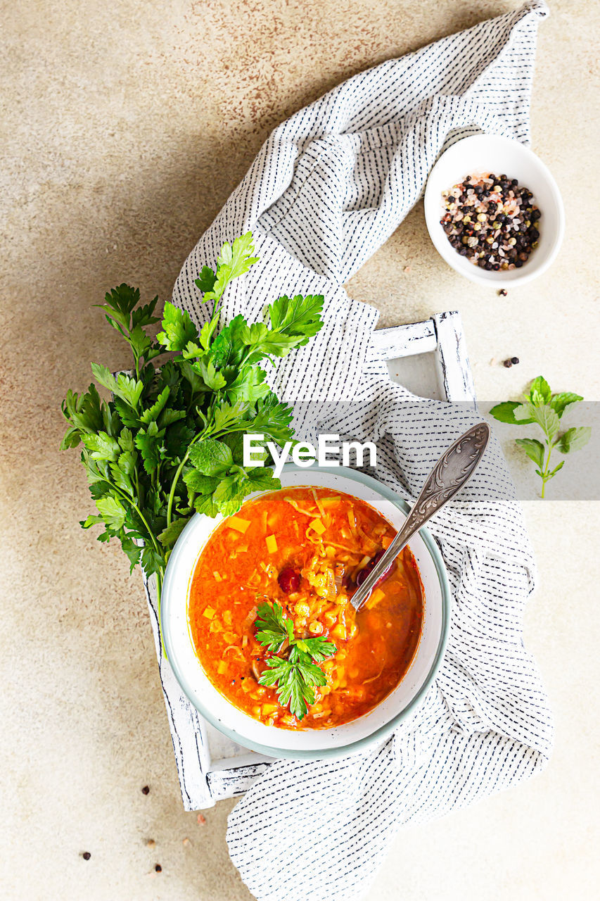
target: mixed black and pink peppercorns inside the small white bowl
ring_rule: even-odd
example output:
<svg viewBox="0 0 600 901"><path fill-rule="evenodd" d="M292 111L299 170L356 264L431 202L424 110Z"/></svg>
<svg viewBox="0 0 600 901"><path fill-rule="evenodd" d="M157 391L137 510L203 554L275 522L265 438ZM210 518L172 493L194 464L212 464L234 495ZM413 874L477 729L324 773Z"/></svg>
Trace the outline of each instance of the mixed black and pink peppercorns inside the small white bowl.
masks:
<svg viewBox="0 0 600 901"><path fill-rule="evenodd" d="M497 272L521 268L538 246L541 213L516 178L467 176L442 193L441 226L452 247L474 266Z"/></svg>

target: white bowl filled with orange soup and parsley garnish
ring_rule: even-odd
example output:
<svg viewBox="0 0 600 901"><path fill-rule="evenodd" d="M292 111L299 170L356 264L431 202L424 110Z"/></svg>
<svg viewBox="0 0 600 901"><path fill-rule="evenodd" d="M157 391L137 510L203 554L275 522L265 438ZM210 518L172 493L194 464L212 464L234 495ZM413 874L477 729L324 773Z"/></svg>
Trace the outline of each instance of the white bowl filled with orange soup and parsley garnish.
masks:
<svg viewBox="0 0 600 901"><path fill-rule="evenodd" d="M272 757L340 757L390 734L441 665L450 588L422 529L357 613L350 603L405 521L353 469L286 466L281 489L201 514L168 561L161 628L196 709Z"/></svg>

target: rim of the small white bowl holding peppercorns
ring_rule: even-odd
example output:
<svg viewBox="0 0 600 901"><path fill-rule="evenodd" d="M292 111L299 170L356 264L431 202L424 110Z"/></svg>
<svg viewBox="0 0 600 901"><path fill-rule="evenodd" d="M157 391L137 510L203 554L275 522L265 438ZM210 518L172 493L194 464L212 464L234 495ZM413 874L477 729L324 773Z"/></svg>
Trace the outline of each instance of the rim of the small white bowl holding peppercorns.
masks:
<svg viewBox="0 0 600 901"><path fill-rule="evenodd" d="M509 146L512 152L521 153L524 157L528 157L532 160L534 165L540 170L541 176L545 179L550 193L552 194L554 201L557 207L557 227L556 227L556 235L554 238L554 243L548 253L547 259L541 263L539 267L534 267L530 271L520 271L518 276L514 278L506 278L505 275L498 273L494 273L494 278L486 278L477 272L477 268L471 266L473 272L470 272L468 269L463 269L459 267L458 261L453 259L450 256L450 252L446 248L445 245L438 241L437 238L441 233L441 227L439 218L437 214L433 214L433 200L432 200L432 179L434 180L434 176L437 174L437 170L441 168L441 162L447 154L453 153L458 155L457 150L455 148L464 147L466 143L469 145L484 143L485 141L496 141L498 144L505 144ZM430 185L432 185L430 189ZM554 260L557 258L560 247L562 245L564 236L565 236L565 206L562 200L562 196L560 194L559 186L556 182L555 177L550 172L548 166L540 159L537 153L534 153L530 147L527 147L521 141L517 141L514 138L507 138L505 135L501 134L472 134L468 135L466 138L461 138L459 141L455 141L450 145L444 152L441 154L439 159L436 160L435 165L432 168L432 171L429 173L427 177L427 183L425 185L425 191L423 195L423 206L424 206L424 214L425 214L425 224L427 225L427 231L429 232L430 239L432 241L433 247L441 256L441 259L447 263L450 268L453 268L455 272L458 272L460 276L467 278L469 281L474 282L477 285L483 285L485 287L492 288L510 288L517 287L520 285L524 285L527 282L532 281L534 278L538 278L538 276L543 275L544 272L547 271L548 268L552 265ZM445 235L444 235L445 238ZM448 243L448 241L446 241ZM444 251L442 252L441 246L444 247ZM450 244L448 244L450 248ZM451 248L452 253L457 256L456 251ZM460 258L462 259L462 258ZM523 267L525 268L525 267Z"/></svg>

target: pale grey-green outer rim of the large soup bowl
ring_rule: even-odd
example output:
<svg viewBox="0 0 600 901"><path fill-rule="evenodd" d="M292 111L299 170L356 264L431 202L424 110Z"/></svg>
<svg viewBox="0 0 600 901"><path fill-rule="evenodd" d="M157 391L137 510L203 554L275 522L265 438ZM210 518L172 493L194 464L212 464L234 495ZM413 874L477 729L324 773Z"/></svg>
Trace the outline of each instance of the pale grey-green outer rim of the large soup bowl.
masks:
<svg viewBox="0 0 600 901"><path fill-rule="evenodd" d="M327 467L318 467L313 466L310 469L299 469L295 467L293 463L286 463L283 468L283 471L290 472L298 472L302 471L306 475L306 484L310 484L310 474L311 472L334 472L336 475L345 476L349 478L350 481L360 482L363 485L368 487L372 487L377 493L386 497L388 501L398 507L403 513L407 514L409 512L410 505L406 503L404 498L398 496L395 491L391 488L384 485L382 482L377 481L376 478L372 476L368 476L366 473L360 472L358 469L350 469L348 467L336 467L335 470L332 470ZM277 489L275 489L277 490ZM254 496L259 496L260 494L265 494L266 492L255 492L252 495L249 495L245 498L244 503L247 500L252 499ZM282 748L273 748L269 745L262 744L261 742L256 742L254 740L250 740L245 736L242 736L240 733L236 732L234 729L230 729L228 726L223 724L221 720L219 720L214 714L211 712L210 708L204 705L201 701L195 699L192 700L193 692L188 692L187 690L187 679L186 673L182 672L177 664L177 657L174 656L171 651L173 648L171 642L171 633L169 629L169 619L168 619L168 609L169 609L169 593L171 582L173 581L173 573L177 568L177 560L179 554L182 552L184 542L182 541L188 530L191 531L191 527L193 523L196 521L196 517L201 516L202 514L194 514L189 523L186 524L185 529L179 535L177 542L175 543L175 547L171 552L171 555L168 559L167 570L165 572L165 578L162 587L162 597L161 597L161 605L160 605L160 631L163 637L163 641L165 643L165 649L167 651L167 659L168 663L173 670L175 677L177 678L177 682L184 692L185 696L189 700L190 704L195 707L199 714L201 714L205 720L214 726L220 733L223 733L227 738L231 739L232 742L236 742L236 744L241 745L242 748L247 748L250 751L256 751L259 754L263 754L267 757L281 759L288 758L291 760L325 760L325 759L336 759L341 757L347 757L350 754L356 753L357 751L362 751L363 749L370 747L375 744L377 741L382 741L387 738L391 733L395 731L397 726L401 724L405 719L407 719L413 711L423 703L423 697L429 691L430 687L432 687L433 680L436 678L440 668L441 663L444 657L444 653L446 651L446 647L448 644L448 636L450 631L450 609L451 609L451 601L452 595L450 591L450 583L448 581L448 574L446 572L446 568L444 562L441 558L441 551L433 539L432 533L423 526L423 528L419 531L420 537L423 539L423 543L425 544L427 550L429 551L433 565L435 567L435 571L440 583L441 589L441 633L440 639L438 642L438 647L435 652L435 656L432 661L432 665L427 673L426 678L424 678L421 687L416 692L414 698L405 706L405 708L399 711L395 716L393 716L390 720L387 721L386 724L379 726L374 732L369 733L368 735L363 736L360 739L357 739L353 742L348 742L348 744L340 745L335 748L325 748L321 750L316 749L303 749L303 750L295 750L295 749L282 749ZM216 526L215 526L216 527ZM179 548L177 548L179 545ZM170 568L170 570L169 570ZM224 696L223 696L224 697ZM227 700L227 698L225 698ZM228 702L231 704L231 702ZM234 706L234 705L232 705ZM292 734L293 731L292 731Z"/></svg>

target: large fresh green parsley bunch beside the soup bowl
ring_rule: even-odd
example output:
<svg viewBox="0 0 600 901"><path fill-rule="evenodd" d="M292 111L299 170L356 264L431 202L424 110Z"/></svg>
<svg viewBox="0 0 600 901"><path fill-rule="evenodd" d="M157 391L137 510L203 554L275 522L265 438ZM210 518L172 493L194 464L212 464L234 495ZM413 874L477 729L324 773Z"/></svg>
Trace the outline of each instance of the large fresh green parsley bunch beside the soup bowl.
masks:
<svg viewBox="0 0 600 901"><path fill-rule="evenodd" d="M159 599L169 553L195 511L230 515L250 492L281 487L268 466L244 468L242 435L262 432L278 444L293 438L292 408L277 400L258 364L285 357L319 331L323 296L279 297L268 306L268 324L238 315L218 332L225 289L257 262L253 253L248 232L223 244L214 270L202 269L195 284L212 313L199 333L189 314L167 303L152 338L158 297L141 305L137 288L115 287L100 306L128 342L132 369L114 376L92 364L112 399L90 385L81 395L68 391L62 405L61 448L83 445L97 507L81 524L102 523L99 541L118 538L132 569L141 563L156 574Z"/></svg>

